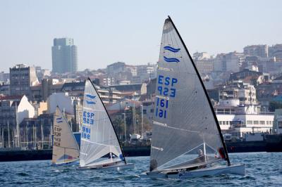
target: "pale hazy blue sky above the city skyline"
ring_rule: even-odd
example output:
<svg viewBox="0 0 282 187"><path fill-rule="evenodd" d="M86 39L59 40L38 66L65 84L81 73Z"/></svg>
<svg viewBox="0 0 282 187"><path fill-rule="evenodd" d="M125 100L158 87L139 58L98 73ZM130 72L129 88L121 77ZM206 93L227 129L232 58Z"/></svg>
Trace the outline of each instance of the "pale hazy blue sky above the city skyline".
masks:
<svg viewBox="0 0 282 187"><path fill-rule="evenodd" d="M279 0L1 0L0 71L19 63L51 70L53 39L61 37L78 46L78 70L156 63L167 15L191 54L281 44L281 7Z"/></svg>

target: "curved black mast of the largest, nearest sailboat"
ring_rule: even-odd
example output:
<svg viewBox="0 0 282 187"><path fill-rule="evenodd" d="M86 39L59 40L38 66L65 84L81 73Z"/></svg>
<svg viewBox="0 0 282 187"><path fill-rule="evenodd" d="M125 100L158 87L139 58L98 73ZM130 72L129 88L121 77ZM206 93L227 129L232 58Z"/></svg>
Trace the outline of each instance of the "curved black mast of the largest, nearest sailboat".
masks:
<svg viewBox="0 0 282 187"><path fill-rule="evenodd" d="M217 127L217 129L219 130L219 136L220 136L220 138L221 138L221 142L222 142L222 145L223 145L224 155L225 155L225 157L226 157L227 164L228 164L228 166L230 166L231 163L230 163L230 160L229 160L229 157L228 157L228 152L227 152L226 144L225 144L225 141L224 141L224 139L223 139L223 135L222 135L222 133L221 133L221 128L220 128L220 126L219 126L219 122L217 121L217 118L216 118L216 113L214 112L214 108L212 107L212 102L209 100L209 95L208 95L208 93L207 93L206 88L204 87L204 82L202 82L202 78L201 78L201 76L200 76L200 73L199 73L198 70L197 70L197 67L196 67L196 65L195 65L195 63L194 63L194 60L193 60L192 57L190 56L190 53L189 53L187 47L185 46L185 43L184 43L182 37L180 36L180 34L179 34L179 32L178 32L178 30L177 30L177 28L176 28L176 25L174 25L174 23L173 23L173 21L171 20L171 17L170 17L169 15L168 15L168 19L171 21L171 23L172 23L174 29L176 30L176 33L178 34L178 37L180 38L180 41L181 41L181 43L183 44L183 46L184 46L184 48L185 48L185 51L188 53L188 56L189 56L189 58L190 58L190 60L191 60L191 62L192 62L192 65L193 65L193 67L194 67L194 69L195 69L195 72L197 73L197 77L198 77L198 79L200 79L200 83L201 83L201 85L202 85L202 89L204 89L204 94L205 94L205 96L206 96L206 98L207 98L207 101L208 101L208 103L209 103L209 107L210 107L211 110L212 110L212 114L214 115L214 120L215 120L215 122L216 122L216 127Z"/></svg>

